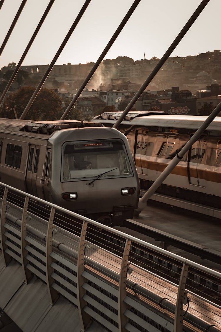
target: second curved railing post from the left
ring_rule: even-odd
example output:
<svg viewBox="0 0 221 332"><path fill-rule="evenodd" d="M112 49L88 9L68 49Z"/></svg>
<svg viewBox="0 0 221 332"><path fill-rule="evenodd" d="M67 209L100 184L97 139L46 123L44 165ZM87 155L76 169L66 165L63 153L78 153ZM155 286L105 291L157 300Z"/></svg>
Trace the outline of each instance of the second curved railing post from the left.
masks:
<svg viewBox="0 0 221 332"><path fill-rule="evenodd" d="M21 226L21 255L22 255L22 269L24 273L25 283L28 284L28 281L32 278L31 271L27 269L26 265L28 260L26 258L28 251L26 250L26 235L27 235L27 218L28 218L28 201L29 197L25 197L25 203L22 213L22 226Z"/></svg>

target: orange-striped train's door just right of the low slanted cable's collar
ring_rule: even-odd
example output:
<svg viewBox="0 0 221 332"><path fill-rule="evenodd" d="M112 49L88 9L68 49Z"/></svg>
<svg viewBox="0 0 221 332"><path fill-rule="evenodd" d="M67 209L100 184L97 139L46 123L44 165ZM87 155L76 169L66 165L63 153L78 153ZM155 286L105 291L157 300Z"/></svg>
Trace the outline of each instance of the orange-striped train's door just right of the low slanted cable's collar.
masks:
<svg viewBox="0 0 221 332"><path fill-rule="evenodd" d="M201 136L188 152L187 171L189 183L192 185L205 187L205 151L206 136Z"/></svg>

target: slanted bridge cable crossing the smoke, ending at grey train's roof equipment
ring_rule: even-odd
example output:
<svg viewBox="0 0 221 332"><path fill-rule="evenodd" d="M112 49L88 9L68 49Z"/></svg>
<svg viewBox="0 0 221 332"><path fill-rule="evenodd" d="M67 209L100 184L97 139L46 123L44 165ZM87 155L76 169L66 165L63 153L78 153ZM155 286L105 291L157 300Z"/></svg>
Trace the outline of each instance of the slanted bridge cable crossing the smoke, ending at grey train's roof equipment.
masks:
<svg viewBox="0 0 221 332"><path fill-rule="evenodd" d="M108 50L111 48L111 46L113 45L114 41L117 39L117 37L119 36L120 32L122 31L122 29L124 28L125 24L127 23L127 21L129 20L129 18L131 17L131 15L133 14L134 10L136 9L136 7L138 6L140 0L135 0L133 5L131 6L131 8L129 9L129 11L127 12L127 14L125 15L124 19L122 20L121 24L119 25L119 27L117 28L117 30L115 31L114 35L112 36L112 38L110 39L110 41L108 42L107 46L104 48L103 52L101 53L101 55L99 56L99 58L97 59L96 63L94 64L93 68L91 69L91 71L89 72L89 74L87 75L87 77L85 78L85 80L83 81L83 84L81 85L79 91L76 93L76 95L74 96L74 98L72 99L72 101L70 102L70 104L68 105L67 109L65 110L64 114L62 115L60 120L65 120L66 117L68 116L68 114L70 113L72 107L74 106L74 104L76 103L76 101L78 100L80 94L82 93L83 89L86 87L87 83L89 82L89 80L91 79L91 77L93 76L93 74L95 73L97 67L99 66L99 64L101 63L101 61L103 60L104 56L107 54Z"/></svg>

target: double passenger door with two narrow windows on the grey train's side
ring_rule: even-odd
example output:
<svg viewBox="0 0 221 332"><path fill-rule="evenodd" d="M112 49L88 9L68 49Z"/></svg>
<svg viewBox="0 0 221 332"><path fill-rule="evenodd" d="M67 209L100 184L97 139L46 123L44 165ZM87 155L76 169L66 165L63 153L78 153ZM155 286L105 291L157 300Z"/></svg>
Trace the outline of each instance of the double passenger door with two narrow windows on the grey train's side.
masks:
<svg viewBox="0 0 221 332"><path fill-rule="evenodd" d="M26 172L26 186L29 194L38 196L37 193L37 168L39 159L40 147L30 144L29 145L29 155L28 155L28 165Z"/></svg>

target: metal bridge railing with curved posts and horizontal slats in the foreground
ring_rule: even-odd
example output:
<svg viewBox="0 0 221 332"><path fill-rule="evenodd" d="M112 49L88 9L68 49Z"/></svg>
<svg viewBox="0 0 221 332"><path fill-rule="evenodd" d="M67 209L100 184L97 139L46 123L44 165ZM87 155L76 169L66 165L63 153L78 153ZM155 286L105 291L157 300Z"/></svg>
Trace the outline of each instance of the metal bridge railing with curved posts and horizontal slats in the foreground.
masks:
<svg viewBox="0 0 221 332"><path fill-rule="evenodd" d="M0 248L82 330L221 331L221 273L0 183ZM178 282L177 282L178 280Z"/></svg>

